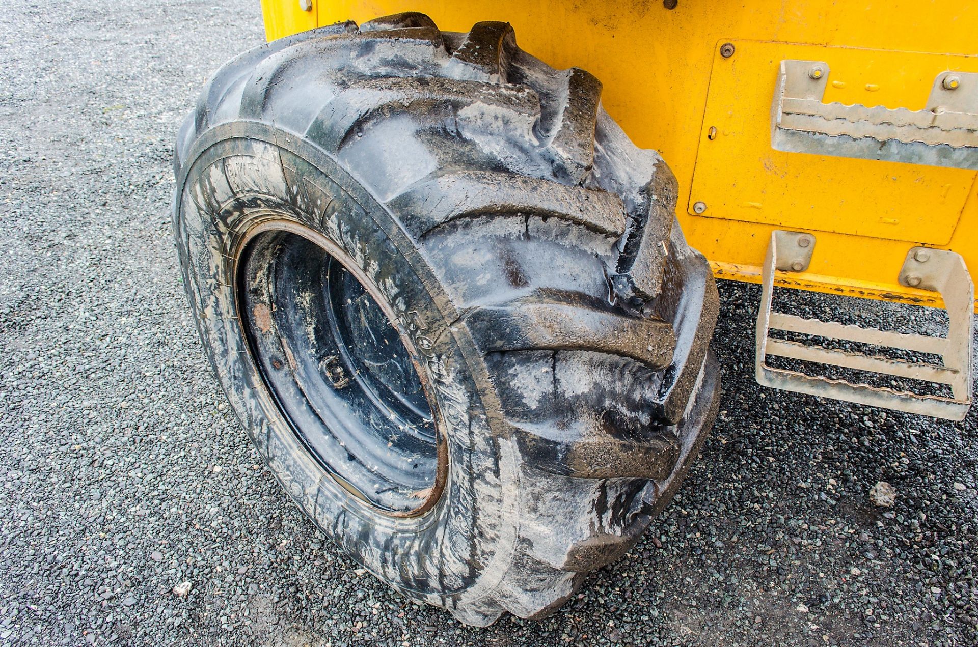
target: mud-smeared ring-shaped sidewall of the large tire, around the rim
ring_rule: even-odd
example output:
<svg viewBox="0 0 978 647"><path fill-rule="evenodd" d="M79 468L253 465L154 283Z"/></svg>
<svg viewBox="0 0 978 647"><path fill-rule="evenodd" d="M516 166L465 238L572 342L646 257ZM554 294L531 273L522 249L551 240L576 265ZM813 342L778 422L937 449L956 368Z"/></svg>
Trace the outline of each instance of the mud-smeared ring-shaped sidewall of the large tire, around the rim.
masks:
<svg viewBox="0 0 978 647"><path fill-rule="evenodd" d="M442 495L421 515L391 516L351 496L307 451L262 379L238 311L237 274L248 232L271 219L342 249L417 349L448 463ZM454 606L458 596L488 594L512 559L517 493L507 486L517 479L517 453L490 427L491 389L465 326L450 324L458 314L390 213L323 151L239 121L203 133L189 151L174 235L208 358L289 496L359 563L416 599Z"/></svg>

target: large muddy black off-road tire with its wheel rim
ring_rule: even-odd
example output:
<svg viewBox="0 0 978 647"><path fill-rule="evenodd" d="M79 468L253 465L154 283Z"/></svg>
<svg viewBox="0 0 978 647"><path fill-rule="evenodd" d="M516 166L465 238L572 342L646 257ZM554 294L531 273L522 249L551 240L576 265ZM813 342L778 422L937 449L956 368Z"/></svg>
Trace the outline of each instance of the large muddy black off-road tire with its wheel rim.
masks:
<svg viewBox="0 0 978 647"><path fill-rule="evenodd" d="M269 468L378 578L472 625L622 555L715 414L675 180L509 24L403 14L222 67L179 134L200 337Z"/></svg>

